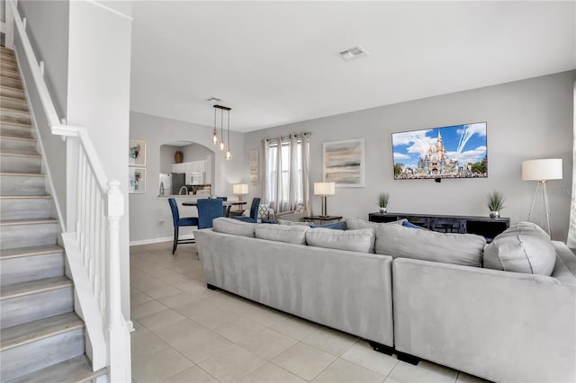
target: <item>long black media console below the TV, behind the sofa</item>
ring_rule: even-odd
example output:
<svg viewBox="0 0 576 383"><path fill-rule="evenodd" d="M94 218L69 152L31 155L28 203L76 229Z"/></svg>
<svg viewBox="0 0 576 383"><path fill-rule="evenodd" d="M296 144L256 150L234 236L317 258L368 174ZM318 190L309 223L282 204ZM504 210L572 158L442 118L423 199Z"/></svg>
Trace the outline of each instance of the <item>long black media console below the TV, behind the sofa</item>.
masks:
<svg viewBox="0 0 576 383"><path fill-rule="evenodd" d="M441 233L470 233L486 238L487 242L510 226L510 218L439 216L430 214L370 213L372 222L392 222L406 218L414 225Z"/></svg>

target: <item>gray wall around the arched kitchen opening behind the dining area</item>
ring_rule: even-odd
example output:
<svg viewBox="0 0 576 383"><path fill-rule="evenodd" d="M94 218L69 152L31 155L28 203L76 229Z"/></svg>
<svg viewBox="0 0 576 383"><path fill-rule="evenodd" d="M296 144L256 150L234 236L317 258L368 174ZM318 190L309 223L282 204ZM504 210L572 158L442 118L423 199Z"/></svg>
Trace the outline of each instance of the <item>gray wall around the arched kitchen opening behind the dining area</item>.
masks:
<svg viewBox="0 0 576 383"><path fill-rule="evenodd" d="M203 147L211 148L212 127L193 124L179 120L130 112L130 138L146 141L146 193L130 194L130 244L152 243L171 239L173 236L172 215L166 198L158 198L158 177L160 173L161 146L175 141L190 141ZM211 154L213 158L214 176L212 194L232 197L232 184L242 181L244 162L243 135L230 132L232 147L235 148L230 161L224 159L224 154L218 150ZM163 161L166 157L162 157ZM193 161L184 153L184 161ZM174 163L174 151L170 163ZM164 173L164 172L163 172ZM166 172L167 173L167 172ZM246 180L245 180L246 181ZM182 201L178 199L178 201ZM196 215L195 208L185 208L179 205L180 215ZM192 228L183 227L181 236L190 234Z"/></svg>

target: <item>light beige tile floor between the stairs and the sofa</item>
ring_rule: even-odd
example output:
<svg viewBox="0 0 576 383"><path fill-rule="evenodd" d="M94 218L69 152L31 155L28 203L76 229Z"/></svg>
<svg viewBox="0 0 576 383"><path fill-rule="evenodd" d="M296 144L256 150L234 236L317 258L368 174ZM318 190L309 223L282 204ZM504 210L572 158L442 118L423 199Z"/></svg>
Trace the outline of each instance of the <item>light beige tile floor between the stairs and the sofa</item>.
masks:
<svg viewBox="0 0 576 383"><path fill-rule="evenodd" d="M206 289L195 245L130 248L132 379L137 382L482 382L413 366L356 336Z"/></svg>

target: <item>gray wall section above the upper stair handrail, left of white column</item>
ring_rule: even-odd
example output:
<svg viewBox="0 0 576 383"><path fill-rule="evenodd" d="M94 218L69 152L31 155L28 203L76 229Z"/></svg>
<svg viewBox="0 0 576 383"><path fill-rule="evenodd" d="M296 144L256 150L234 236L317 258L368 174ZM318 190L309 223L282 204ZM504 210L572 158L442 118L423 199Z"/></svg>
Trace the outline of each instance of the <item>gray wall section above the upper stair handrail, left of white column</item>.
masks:
<svg viewBox="0 0 576 383"><path fill-rule="evenodd" d="M44 61L44 79L60 119L67 108L69 6L65 0L18 2L36 58Z"/></svg>

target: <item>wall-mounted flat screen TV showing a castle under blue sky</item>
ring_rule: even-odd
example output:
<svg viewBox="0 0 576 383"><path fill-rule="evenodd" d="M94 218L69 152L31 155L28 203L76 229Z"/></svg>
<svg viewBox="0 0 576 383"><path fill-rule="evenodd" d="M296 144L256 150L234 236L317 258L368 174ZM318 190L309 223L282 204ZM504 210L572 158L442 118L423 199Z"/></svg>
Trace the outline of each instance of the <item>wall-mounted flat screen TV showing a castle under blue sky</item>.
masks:
<svg viewBox="0 0 576 383"><path fill-rule="evenodd" d="M392 133L394 179L488 176L486 122Z"/></svg>

